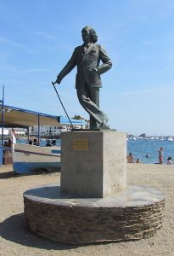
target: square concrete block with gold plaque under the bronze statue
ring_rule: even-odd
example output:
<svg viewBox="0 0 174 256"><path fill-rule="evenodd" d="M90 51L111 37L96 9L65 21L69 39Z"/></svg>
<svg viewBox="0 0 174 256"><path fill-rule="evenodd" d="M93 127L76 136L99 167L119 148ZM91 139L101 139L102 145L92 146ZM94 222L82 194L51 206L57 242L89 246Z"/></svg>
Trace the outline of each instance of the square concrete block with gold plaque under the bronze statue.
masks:
<svg viewBox="0 0 174 256"><path fill-rule="evenodd" d="M61 134L62 192L103 198L126 189L126 134L74 131Z"/></svg>

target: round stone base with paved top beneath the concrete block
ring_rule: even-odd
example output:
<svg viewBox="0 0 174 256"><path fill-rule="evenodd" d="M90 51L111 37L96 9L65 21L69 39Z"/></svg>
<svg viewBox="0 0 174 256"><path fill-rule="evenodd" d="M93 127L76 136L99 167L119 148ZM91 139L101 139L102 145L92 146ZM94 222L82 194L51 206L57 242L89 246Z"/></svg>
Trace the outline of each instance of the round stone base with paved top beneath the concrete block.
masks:
<svg viewBox="0 0 174 256"><path fill-rule="evenodd" d="M106 198L76 198L49 184L26 191L24 203L30 230L69 244L154 236L165 207L163 193L138 186Z"/></svg>

